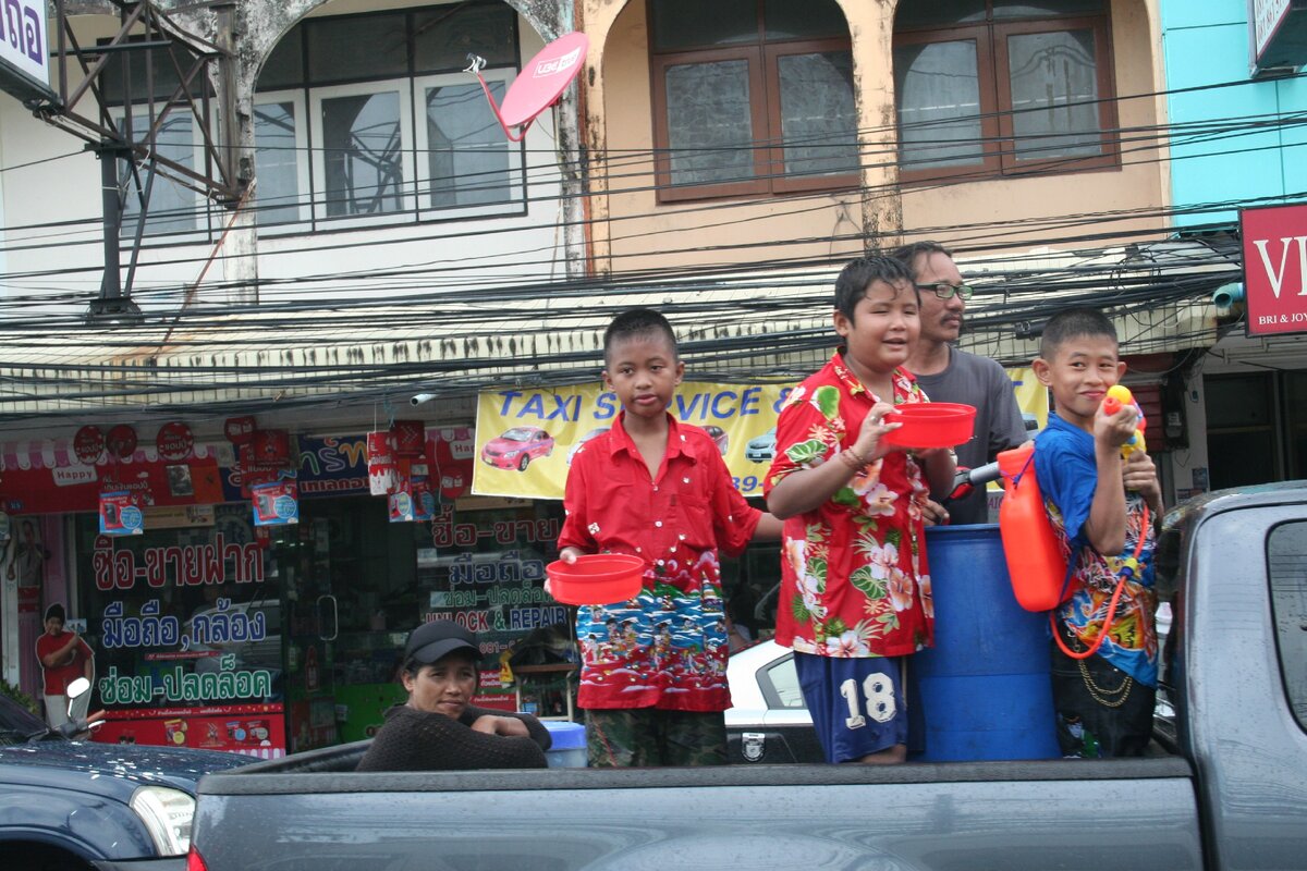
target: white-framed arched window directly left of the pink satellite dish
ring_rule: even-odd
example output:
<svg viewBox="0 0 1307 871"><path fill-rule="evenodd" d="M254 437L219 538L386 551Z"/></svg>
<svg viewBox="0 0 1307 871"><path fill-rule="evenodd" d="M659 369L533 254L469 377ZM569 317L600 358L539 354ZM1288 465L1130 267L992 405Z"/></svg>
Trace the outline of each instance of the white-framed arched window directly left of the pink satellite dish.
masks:
<svg viewBox="0 0 1307 871"><path fill-rule="evenodd" d="M506 214L525 201L510 142L469 51L502 102L518 72L516 13L503 3L311 18L259 76L259 223L356 226Z"/></svg>

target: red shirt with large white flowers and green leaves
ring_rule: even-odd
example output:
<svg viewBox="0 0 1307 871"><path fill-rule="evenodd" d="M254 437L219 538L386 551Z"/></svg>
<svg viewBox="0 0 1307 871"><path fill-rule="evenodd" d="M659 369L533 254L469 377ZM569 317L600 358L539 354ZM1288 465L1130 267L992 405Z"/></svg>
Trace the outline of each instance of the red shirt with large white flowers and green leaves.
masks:
<svg viewBox="0 0 1307 871"><path fill-rule="evenodd" d="M894 371L894 405L925 402L912 376ZM765 490L825 462L857 440L872 394L836 353L787 397ZM786 521L776 641L823 657L897 657L935 636L921 507L928 487L916 460L877 460L819 508Z"/></svg>

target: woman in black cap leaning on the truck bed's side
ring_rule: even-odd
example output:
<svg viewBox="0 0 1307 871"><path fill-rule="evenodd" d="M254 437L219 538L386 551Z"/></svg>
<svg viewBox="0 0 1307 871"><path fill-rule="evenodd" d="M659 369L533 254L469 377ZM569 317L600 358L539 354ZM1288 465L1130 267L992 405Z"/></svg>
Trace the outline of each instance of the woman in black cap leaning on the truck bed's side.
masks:
<svg viewBox="0 0 1307 871"><path fill-rule="evenodd" d="M413 629L400 674L408 701L386 712L357 770L544 768L550 739L538 720L471 704L480 656L476 636L457 623Z"/></svg>

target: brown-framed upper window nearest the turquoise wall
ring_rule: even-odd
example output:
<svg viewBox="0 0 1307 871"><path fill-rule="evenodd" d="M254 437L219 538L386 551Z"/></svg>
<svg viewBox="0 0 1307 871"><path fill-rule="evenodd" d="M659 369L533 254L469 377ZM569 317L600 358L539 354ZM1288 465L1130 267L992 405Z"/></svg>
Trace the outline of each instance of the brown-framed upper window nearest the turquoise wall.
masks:
<svg viewBox="0 0 1307 871"><path fill-rule="evenodd" d="M901 4L904 180L1116 166L1104 0Z"/></svg>

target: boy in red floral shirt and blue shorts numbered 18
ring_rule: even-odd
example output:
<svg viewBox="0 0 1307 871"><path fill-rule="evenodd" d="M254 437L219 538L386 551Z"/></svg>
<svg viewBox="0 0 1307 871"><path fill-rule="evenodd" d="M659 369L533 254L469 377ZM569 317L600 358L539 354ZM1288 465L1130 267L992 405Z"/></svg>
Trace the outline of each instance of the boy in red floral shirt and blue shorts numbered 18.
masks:
<svg viewBox="0 0 1307 871"><path fill-rule="evenodd" d="M844 347L788 396L765 484L786 520L776 641L795 649L827 761L901 763L901 658L929 646L935 626L921 509L928 491L949 492L955 461L884 440L902 426L885 423L895 405L927 401L903 370L920 330L907 266L844 266L834 321Z"/></svg>

